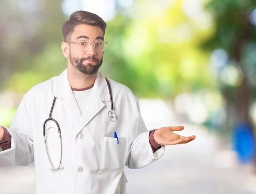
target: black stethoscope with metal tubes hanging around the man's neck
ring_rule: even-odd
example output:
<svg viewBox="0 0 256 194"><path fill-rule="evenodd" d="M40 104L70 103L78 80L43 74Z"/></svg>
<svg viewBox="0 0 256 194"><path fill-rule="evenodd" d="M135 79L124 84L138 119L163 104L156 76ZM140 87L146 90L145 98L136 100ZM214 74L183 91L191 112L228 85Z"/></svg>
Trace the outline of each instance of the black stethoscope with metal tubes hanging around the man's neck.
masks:
<svg viewBox="0 0 256 194"><path fill-rule="evenodd" d="M111 119L111 121L115 122L116 121L116 114L113 112L114 111L114 107L113 107L113 97L112 97L112 91L111 91L111 87L110 87L110 84L108 82L108 79L106 79L106 82L107 82L107 85L108 85L108 93L109 93L109 96L110 96L110 103L111 103L111 110L108 112L108 116L109 118ZM58 169L64 169L63 166L61 166L61 161L62 161L62 138L61 138L61 129L58 125L58 122L52 118L52 110L53 110L53 107L54 107L54 104L55 104L55 100L56 100L56 97L53 98L53 101L52 101L52 107L51 107L51 110L50 110L50 113L49 113L49 118L47 118L45 121L44 121L44 127L43 127L43 134L44 134L44 145L45 145L45 149L46 149L46 153L47 153L47 157L48 157L48 160L52 166L51 170L58 170ZM57 125L57 128L58 128L58 134L59 134L59 138L60 138L60 145L61 145L61 156L60 156L60 160L59 160L59 164L58 164L58 167L55 168L53 163L52 163L52 160L49 156L49 151L48 151L48 147L47 147L47 142L46 142L46 135L45 135L45 127L46 127L46 123L47 121L54 121L55 124Z"/></svg>

